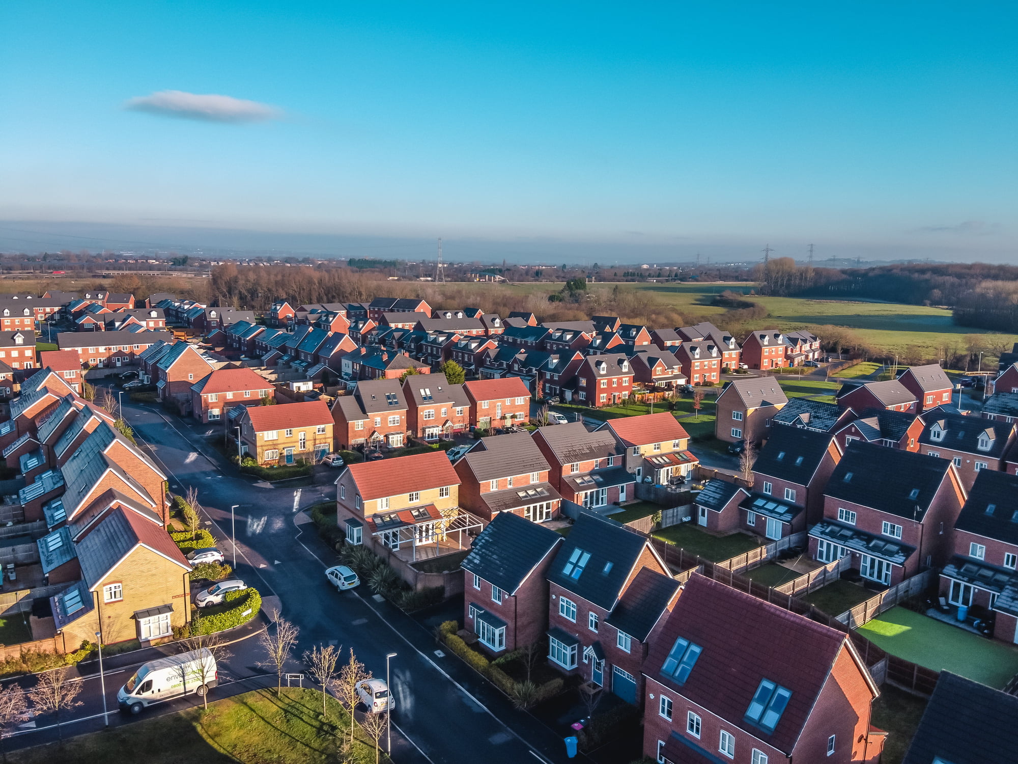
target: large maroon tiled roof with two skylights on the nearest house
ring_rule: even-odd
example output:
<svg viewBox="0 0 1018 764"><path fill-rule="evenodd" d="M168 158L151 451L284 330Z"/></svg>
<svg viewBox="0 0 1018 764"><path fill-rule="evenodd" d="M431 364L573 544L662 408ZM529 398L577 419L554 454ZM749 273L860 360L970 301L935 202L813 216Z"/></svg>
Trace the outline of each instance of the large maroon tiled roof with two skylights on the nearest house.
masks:
<svg viewBox="0 0 1018 764"><path fill-rule="evenodd" d="M683 685L661 672L678 638L702 648ZM791 753L847 635L693 574L644 670L693 703ZM773 732L745 720L761 679L791 691Z"/></svg>

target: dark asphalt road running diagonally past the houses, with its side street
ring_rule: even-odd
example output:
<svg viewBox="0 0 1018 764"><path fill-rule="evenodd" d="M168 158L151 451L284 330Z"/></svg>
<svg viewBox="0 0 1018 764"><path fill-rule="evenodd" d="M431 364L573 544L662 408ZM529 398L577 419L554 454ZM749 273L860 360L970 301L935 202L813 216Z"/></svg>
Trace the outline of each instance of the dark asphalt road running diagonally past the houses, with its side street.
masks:
<svg viewBox="0 0 1018 764"><path fill-rule="evenodd" d="M469 751L469 759L487 764L558 764L568 760L558 733L515 709L500 691L454 655L439 650L434 636L420 623L388 602L376 601L366 586L337 592L326 583L323 572L336 563L336 553L318 538L301 510L334 499L331 483L272 486L240 475L204 442L204 433L210 429L207 425L189 426L158 406L127 400L124 415L138 443L151 451L168 476L171 490L182 494L190 486L197 488L206 527L231 562L235 552L236 575L259 589L266 600L264 609L270 611L276 604L281 616L300 630L296 657L288 671L303 672L299 656L316 644L335 645L344 653L352 650L381 677L387 673L386 655L396 653L389 666L396 698L392 718L395 762L458 764L465 751ZM231 541L234 532L235 545ZM221 664L224 684L211 693L211 700L275 681L275 674L267 675L266 656L253 636L234 644L231 652ZM104 660L107 707L114 711L111 725L196 705L195 699L188 698L169 701L136 717L116 711L117 690L151 655L154 653ZM91 666L80 670L86 685L80 695L82 705L64 714L65 735L103 726L102 683ZM34 678L18 681L29 686ZM40 717L35 727L17 729L7 745L23 748L55 739L56 727ZM577 759L584 760L582 756Z"/></svg>

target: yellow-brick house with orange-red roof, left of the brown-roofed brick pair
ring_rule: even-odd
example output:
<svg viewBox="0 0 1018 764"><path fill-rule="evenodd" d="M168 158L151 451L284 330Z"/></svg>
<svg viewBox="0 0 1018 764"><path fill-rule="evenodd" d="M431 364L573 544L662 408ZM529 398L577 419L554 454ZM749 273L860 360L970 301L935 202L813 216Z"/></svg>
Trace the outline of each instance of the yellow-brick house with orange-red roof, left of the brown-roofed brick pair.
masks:
<svg viewBox="0 0 1018 764"><path fill-rule="evenodd" d="M333 447L333 421L324 400L244 406L235 421L240 451L262 467L321 461ZM236 429L228 431L236 439Z"/></svg>

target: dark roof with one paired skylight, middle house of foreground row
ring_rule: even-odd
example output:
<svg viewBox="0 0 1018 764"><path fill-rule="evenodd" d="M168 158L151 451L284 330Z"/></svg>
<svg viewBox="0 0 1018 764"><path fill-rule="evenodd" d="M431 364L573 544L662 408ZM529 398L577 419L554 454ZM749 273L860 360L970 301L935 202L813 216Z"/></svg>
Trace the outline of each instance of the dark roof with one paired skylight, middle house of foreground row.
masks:
<svg viewBox="0 0 1018 764"><path fill-rule="evenodd" d="M555 555L548 580L587 602L612 610L645 544L642 536L627 531L618 523L582 512ZM564 568L577 549L581 555L590 556L579 577L574 578Z"/></svg>

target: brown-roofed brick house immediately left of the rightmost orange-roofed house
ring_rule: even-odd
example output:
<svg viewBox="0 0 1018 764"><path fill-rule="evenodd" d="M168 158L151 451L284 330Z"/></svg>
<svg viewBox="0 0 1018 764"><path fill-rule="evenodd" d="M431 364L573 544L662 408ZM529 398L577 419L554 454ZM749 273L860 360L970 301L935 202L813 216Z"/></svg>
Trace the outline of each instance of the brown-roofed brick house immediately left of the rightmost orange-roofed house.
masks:
<svg viewBox="0 0 1018 764"><path fill-rule="evenodd" d="M592 509L634 498L636 476L626 470L625 448L611 432L587 432L581 422L570 422L542 427L533 440L551 467L549 482L564 499Z"/></svg>

